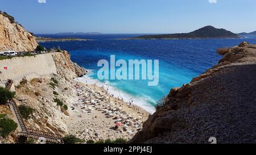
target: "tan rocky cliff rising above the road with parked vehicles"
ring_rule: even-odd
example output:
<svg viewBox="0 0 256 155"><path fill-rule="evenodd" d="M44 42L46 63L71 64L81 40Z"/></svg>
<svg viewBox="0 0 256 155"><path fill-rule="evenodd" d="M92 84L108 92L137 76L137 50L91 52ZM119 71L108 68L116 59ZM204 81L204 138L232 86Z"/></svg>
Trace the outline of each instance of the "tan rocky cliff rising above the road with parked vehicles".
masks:
<svg viewBox="0 0 256 155"><path fill-rule="evenodd" d="M36 40L6 13L0 14L0 51L34 51Z"/></svg>

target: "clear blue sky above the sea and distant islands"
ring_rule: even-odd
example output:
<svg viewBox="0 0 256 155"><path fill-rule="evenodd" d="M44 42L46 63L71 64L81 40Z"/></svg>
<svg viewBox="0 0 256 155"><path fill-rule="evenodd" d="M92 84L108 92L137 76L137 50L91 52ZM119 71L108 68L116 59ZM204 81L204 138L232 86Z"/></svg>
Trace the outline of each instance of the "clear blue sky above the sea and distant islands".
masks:
<svg viewBox="0 0 256 155"><path fill-rule="evenodd" d="M34 33L256 30L255 0L1 0L0 10Z"/></svg>

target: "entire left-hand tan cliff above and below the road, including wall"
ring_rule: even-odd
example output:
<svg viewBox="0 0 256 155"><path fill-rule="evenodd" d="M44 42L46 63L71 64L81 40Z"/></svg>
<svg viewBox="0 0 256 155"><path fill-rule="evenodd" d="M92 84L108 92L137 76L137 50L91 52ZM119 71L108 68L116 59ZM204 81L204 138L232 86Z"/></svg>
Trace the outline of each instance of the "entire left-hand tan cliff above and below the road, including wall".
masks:
<svg viewBox="0 0 256 155"><path fill-rule="evenodd" d="M33 51L37 45L34 36L15 23L13 17L0 14L0 51ZM0 69L0 86L5 86L7 78L13 79L16 104L33 109L32 115L24 119L27 128L68 135L70 107L77 102L72 82L86 73L70 58L67 51L61 51L0 60L0 66L9 66L9 70ZM8 106L0 105L0 114L15 118ZM14 134L4 140L0 137L5 143L14 140Z"/></svg>

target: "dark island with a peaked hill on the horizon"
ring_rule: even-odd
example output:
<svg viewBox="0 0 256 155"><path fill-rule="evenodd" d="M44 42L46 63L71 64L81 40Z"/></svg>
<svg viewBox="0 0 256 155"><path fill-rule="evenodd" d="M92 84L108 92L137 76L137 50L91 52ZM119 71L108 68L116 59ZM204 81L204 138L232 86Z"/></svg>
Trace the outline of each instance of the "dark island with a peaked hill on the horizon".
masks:
<svg viewBox="0 0 256 155"><path fill-rule="evenodd" d="M174 33L164 35L143 35L130 39L225 39L225 38L241 38L231 31L223 28L215 28L213 26L205 26L199 30L189 33Z"/></svg>

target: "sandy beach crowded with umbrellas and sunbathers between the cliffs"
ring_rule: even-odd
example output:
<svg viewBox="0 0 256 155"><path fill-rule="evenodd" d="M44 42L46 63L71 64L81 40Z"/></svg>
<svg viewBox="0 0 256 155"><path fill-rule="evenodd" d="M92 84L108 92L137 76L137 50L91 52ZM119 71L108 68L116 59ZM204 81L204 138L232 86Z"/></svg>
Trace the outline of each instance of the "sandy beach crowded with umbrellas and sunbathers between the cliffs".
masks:
<svg viewBox="0 0 256 155"><path fill-rule="evenodd" d="M69 133L87 140L130 140L150 115L134 104L115 98L104 87L74 82L77 103L71 107Z"/></svg>

